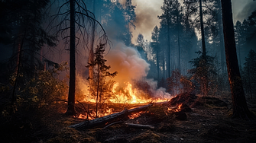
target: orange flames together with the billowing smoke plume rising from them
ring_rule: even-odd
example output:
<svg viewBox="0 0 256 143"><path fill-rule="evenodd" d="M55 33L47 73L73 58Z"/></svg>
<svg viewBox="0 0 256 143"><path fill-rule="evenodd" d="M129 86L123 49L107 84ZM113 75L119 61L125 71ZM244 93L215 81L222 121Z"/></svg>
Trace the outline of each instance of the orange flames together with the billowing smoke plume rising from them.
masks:
<svg viewBox="0 0 256 143"><path fill-rule="evenodd" d="M106 65L111 65L109 71L118 71L118 75L113 78L115 83L112 85L108 98L104 100L101 99L100 101L98 100L98 103L121 103L127 105L151 102L157 103L170 100L170 94L166 93L164 88L157 89L157 81L146 78L150 65L144 59L141 59L137 49L118 43L109 51L108 55L105 56L105 59L107 60ZM82 101L85 103L96 104L96 96L92 96L87 89L89 87L88 81L86 84L86 81L80 81L82 82L79 85L83 85L81 91L83 91L84 98ZM100 94L101 93L99 93L99 95ZM107 116L116 113L117 111L107 107L101 109L101 112L102 113L98 113L99 117ZM96 113L92 111L89 115L90 116L78 117L83 119L93 119L93 116L95 117Z"/></svg>

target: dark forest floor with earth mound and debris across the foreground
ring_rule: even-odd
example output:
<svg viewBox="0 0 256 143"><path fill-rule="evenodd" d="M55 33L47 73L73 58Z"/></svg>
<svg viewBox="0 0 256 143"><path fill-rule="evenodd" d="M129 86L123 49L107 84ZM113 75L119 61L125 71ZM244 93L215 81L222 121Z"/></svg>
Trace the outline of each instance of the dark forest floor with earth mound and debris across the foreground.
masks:
<svg viewBox="0 0 256 143"><path fill-rule="evenodd" d="M231 119L230 100L210 97L203 106L196 101L185 119L177 118L175 112L161 112L167 109L164 106L152 106L137 118L125 120L155 129L134 129L121 123L84 131L68 128L84 119L63 116L66 104L55 103L50 106L50 113L41 118L44 128L33 133L37 135L33 142L256 142L256 120ZM256 115L255 104L248 106Z"/></svg>

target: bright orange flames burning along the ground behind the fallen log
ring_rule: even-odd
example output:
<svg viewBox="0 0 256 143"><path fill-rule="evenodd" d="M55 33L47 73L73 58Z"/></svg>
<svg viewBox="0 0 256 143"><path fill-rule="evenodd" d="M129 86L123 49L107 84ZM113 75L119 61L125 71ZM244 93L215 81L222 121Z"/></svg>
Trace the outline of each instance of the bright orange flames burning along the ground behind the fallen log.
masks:
<svg viewBox="0 0 256 143"><path fill-rule="evenodd" d="M88 91L88 90L83 90ZM138 85L136 87L136 84L131 84L127 82L125 86L121 86L118 82L113 84L111 89L111 96L108 96L108 99L105 99L104 101L98 100L98 104L101 104L102 106L105 106L104 108L101 108L98 110L98 117L102 116L108 116L112 113L118 113L119 110L115 109L122 104L123 107L125 105L131 105L131 106L143 106L146 103L160 103L167 100L170 100L170 97L164 97L164 93L155 92L156 95L152 96L149 95L148 89L139 88ZM151 93L152 94L152 93ZM96 106L96 97L88 96L89 92L84 93L83 102L84 103L90 103L94 106ZM102 95L102 99L103 99ZM104 105L103 105L104 104ZM114 107L109 107L108 104L114 104ZM123 109L122 109L123 110ZM132 113L130 116L128 116L129 119L134 119L138 116L140 116L142 112L138 113ZM87 116L87 113L79 114L77 116L74 116L79 119L95 119L96 118L96 110L90 110L89 114Z"/></svg>

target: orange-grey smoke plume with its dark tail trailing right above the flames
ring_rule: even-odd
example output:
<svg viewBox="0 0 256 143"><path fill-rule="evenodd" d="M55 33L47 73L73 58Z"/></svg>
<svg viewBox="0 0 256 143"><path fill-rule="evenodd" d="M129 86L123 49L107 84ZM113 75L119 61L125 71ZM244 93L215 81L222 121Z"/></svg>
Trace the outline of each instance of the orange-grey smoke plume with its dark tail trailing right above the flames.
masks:
<svg viewBox="0 0 256 143"><path fill-rule="evenodd" d="M143 91L147 98L170 97L164 88L157 89L157 81L146 78L150 65L141 59L137 49L117 43L105 59L106 64L111 65L111 72L118 71L118 75L113 80L118 81L120 86L125 86L127 82L130 82L133 87Z"/></svg>

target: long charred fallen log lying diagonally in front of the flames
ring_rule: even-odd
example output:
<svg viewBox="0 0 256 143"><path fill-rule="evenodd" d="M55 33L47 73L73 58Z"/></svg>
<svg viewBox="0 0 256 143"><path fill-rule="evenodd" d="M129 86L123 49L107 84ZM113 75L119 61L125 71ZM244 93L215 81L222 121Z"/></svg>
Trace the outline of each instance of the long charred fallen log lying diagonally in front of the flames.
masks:
<svg viewBox="0 0 256 143"><path fill-rule="evenodd" d="M69 126L70 128L74 128L76 130L85 130L85 129L92 129L98 126L105 125L108 122L115 122L118 119L125 119L125 117L131 115L131 113L138 113L143 110L147 110L147 107L152 106L152 103L149 103L145 106L139 106L137 108L131 109L131 110L122 110L122 112L119 113L112 113L108 116L102 116L100 118L92 119L92 120L86 120L84 122L79 122L78 124L74 124L72 126Z"/></svg>

